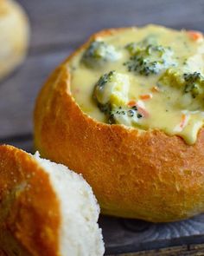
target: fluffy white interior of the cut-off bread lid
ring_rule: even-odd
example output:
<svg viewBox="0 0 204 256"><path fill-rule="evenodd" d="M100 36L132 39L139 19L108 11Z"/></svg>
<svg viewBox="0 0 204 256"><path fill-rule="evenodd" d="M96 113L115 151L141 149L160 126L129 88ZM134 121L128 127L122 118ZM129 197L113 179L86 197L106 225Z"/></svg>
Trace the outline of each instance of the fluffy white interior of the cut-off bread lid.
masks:
<svg viewBox="0 0 204 256"><path fill-rule="evenodd" d="M67 167L34 155L49 175L61 205L61 256L100 256L105 253L99 205L83 177Z"/></svg>

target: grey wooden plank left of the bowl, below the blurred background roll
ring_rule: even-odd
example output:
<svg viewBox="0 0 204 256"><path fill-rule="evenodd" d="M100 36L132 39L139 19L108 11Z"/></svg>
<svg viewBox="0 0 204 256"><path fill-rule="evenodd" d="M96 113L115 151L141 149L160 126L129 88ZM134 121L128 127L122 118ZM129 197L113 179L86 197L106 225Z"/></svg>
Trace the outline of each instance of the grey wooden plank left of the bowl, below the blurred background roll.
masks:
<svg viewBox="0 0 204 256"><path fill-rule="evenodd" d="M32 132L35 97L51 70L70 50L29 56L22 67L0 84L0 141L9 135Z"/></svg>

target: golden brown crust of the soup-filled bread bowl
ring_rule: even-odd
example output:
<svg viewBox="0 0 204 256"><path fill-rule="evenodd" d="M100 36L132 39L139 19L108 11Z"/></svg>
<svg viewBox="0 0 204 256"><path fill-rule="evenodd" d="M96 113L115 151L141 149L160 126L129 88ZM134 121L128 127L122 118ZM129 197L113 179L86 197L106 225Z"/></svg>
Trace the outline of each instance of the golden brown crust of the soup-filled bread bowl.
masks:
<svg viewBox="0 0 204 256"><path fill-rule="evenodd" d="M118 30L94 35L106 36ZM70 93L68 62L56 69L35 105L35 147L82 173L102 213L150 221L204 212L204 129L189 146L179 136L95 121Z"/></svg>

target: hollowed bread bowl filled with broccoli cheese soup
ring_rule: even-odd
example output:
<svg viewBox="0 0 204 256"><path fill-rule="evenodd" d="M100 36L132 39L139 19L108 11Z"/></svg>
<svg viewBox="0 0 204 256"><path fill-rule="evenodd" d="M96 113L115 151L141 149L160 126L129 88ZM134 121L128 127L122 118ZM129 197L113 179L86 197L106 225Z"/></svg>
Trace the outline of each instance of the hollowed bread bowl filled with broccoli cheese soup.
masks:
<svg viewBox="0 0 204 256"><path fill-rule="evenodd" d="M156 25L91 36L42 87L35 148L82 173L104 214L203 213L203 52L200 32Z"/></svg>

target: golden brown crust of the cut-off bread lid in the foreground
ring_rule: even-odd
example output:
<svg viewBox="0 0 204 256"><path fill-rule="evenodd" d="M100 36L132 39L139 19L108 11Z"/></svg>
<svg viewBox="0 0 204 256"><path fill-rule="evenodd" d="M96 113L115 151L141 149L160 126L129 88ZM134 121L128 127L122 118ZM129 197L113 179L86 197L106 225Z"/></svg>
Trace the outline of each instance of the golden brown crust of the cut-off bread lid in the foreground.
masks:
<svg viewBox="0 0 204 256"><path fill-rule="evenodd" d="M29 154L0 146L0 175L1 250L59 256L60 205L48 174Z"/></svg>

